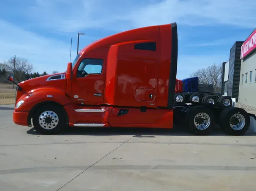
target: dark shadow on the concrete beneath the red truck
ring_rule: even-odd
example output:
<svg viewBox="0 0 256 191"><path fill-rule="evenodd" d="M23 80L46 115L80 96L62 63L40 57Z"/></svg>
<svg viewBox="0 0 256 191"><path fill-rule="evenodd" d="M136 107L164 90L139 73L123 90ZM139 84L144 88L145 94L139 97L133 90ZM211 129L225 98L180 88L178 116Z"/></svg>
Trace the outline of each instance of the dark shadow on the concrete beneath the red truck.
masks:
<svg viewBox="0 0 256 191"><path fill-rule="evenodd" d="M31 128L27 134L40 135L38 131ZM184 127L175 125L173 129L150 129L150 128L77 128L69 127L61 135L84 135L84 136L120 136L131 135L134 137L148 137L154 138L155 136L196 136ZM250 131L246 132L244 136L255 136L256 133ZM217 126L210 136L226 136L224 132Z"/></svg>

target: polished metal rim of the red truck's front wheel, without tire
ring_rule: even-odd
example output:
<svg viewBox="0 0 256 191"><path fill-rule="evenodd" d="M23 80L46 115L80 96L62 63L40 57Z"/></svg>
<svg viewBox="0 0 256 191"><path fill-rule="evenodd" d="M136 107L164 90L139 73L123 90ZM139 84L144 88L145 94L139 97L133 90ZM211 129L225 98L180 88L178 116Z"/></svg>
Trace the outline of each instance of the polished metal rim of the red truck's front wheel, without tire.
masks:
<svg viewBox="0 0 256 191"><path fill-rule="evenodd" d="M38 122L44 129L53 129L58 125L59 117L53 111L44 111L39 116Z"/></svg>

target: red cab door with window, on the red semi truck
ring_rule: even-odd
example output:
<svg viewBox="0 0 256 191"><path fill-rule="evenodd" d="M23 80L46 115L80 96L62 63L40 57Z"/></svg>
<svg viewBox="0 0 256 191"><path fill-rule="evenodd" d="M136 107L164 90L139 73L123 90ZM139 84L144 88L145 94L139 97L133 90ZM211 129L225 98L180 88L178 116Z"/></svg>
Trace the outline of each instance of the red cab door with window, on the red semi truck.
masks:
<svg viewBox="0 0 256 191"><path fill-rule="evenodd" d="M100 105L103 103L105 87L105 58L83 58L74 71L71 99L73 103Z"/></svg>

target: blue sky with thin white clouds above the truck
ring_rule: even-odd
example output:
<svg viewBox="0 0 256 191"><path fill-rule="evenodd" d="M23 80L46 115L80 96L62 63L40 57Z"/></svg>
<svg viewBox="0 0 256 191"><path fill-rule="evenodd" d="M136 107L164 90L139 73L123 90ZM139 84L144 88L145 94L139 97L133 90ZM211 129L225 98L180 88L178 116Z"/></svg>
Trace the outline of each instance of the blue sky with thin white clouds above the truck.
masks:
<svg viewBox="0 0 256 191"><path fill-rule="evenodd" d="M79 49L133 28L177 23L177 79L229 59L256 28L255 0L0 0L0 62L16 55L33 72L63 72Z"/></svg>

